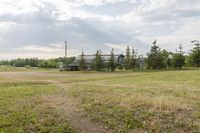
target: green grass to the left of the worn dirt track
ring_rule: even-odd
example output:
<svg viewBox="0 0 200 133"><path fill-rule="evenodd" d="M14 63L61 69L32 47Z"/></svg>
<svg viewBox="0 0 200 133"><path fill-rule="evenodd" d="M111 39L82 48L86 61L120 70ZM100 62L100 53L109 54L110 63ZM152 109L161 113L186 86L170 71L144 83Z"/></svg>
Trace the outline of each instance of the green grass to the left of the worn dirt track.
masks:
<svg viewBox="0 0 200 133"><path fill-rule="evenodd" d="M1 83L0 132L74 132L58 110L41 99L56 91L45 82Z"/></svg>

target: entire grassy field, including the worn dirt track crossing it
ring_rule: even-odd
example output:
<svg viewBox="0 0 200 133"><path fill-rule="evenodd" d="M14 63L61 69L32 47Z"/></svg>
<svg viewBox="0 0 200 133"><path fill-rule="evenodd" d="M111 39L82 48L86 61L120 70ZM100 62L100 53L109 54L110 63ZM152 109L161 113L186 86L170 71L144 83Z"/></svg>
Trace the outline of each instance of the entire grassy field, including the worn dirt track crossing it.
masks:
<svg viewBox="0 0 200 133"><path fill-rule="evenodd" d="M198 133L200 70L6 70L0 132Z"/></svg>

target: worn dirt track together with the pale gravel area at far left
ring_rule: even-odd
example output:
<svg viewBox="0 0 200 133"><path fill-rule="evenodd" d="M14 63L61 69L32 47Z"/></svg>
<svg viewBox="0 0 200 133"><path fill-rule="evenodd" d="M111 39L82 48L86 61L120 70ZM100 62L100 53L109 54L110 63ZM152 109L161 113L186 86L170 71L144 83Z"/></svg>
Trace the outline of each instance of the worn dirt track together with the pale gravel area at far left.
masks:
<svg viewBox="0 0 200 133"><path fill-rule="evenodd" d="M50 76L50 77L63 77L70 76L66 74L49 74L45 72L0 72L0 77L5 78L5 81L13 82L19 81L30 81L31 77L36 76ZM77 99L67 96L67 91L70 87L70 83L62 83L56 80L31 80L32 82L37 81L48 81L58 87L58 92L53 95L43 95L39 100L42 100L45 104L50 107L56 108L60 115L65 117L69 123L73 126L76 133L111 133L109 129L105 129L102 123L92 122L91 119L86 117L86 113L81 109L80 102Z"/></svg>

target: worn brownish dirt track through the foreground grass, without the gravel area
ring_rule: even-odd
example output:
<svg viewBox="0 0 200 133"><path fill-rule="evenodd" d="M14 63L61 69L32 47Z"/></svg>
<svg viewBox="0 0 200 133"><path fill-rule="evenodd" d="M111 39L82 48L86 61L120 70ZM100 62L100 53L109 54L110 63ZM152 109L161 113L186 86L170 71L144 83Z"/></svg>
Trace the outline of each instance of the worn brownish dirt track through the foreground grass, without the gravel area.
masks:
<svg viewBox="0 0 200 133"><path fill-rule="evenodd" d="M76 133L111 133L105 129L102 123L94 123L85 116L84 110L78 108L79 102L73 98L66 96L68 84L63 84L58 81L50 81L55 86L60 88L60 92L54 97L54 102L57 102L57 108L64 111L65 116L75 128Z"/></svg>

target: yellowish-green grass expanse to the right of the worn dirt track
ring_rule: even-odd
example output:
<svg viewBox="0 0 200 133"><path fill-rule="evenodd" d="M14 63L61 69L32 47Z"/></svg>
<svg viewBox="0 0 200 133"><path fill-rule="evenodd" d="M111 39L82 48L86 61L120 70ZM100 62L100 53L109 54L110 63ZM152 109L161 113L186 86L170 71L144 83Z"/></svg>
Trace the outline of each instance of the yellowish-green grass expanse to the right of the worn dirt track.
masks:
<svg viewBox="0 0 200 133"><path fill-rule="evenodd" d="M200 71L115 76L72 86L92 120L114 132L200 132Z"/></svg>

